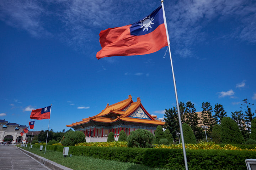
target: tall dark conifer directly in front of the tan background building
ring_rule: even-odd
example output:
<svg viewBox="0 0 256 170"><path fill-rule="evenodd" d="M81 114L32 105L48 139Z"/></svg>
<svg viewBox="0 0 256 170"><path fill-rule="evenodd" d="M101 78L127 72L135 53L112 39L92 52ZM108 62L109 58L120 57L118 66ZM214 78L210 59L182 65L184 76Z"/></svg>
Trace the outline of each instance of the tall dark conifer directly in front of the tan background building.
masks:
<svg viewBox="0 0 256 170"><path fill-rule="evenodd" d="M212 117L212 106L210 106L210 102L202 103L202 123L204 126L208 126L208 132L212 133L213 129L213 117Z"/></svg>

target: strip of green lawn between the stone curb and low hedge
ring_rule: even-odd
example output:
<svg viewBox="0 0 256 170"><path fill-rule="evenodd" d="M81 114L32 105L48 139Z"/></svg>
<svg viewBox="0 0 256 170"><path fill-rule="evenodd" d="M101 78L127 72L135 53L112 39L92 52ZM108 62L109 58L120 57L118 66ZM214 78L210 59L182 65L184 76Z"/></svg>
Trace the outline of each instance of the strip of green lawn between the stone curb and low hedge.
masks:
<svg viewBox="0 0 256 170"><path fill-rule="evenodd" d="M46 150L39 151L39 148L25 148L29 152L40 155L58 164L64 165L74 170L166 170L164 168L149 168L148 166L134 163L123 163L114 160L96 159L92 157L75 156L64 158L61 152Z"/></svg>

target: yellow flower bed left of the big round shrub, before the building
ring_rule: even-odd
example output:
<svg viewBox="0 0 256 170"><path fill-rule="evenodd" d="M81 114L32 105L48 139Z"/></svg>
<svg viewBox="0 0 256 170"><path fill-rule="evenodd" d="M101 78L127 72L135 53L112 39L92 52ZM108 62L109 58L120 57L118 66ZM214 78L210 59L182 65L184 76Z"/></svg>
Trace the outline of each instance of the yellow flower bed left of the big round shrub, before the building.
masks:
<svg viewBox="0 0 256 170"><path fill-rule="evenodd" d="M75 146L98 146L98 147L120 147L120 148L127 148L127 142L83 142L78 143Z"/></svg>

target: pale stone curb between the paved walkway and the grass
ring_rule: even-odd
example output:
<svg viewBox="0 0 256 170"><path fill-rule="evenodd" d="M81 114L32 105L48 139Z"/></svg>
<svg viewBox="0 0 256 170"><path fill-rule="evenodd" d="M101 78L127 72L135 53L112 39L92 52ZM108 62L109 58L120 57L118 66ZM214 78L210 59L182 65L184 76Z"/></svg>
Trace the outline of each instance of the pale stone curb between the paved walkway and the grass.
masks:
<svg viewBox="0 0 256 170"><path fill-rule="evenodd" d="M73 169L70 169L66 166L63 166L63 165L60 165L60 164L57 164L56 162L53 162L49 159L46 159L46 158L43 158L39 155L36 155L34 153L31 153L31 152L28 152L20 147L17 147L17 149L19 149L21 152L23 153L26 153L27 155L29 155L30 157L32 157L33 159L37 160L38 162L44 164L45 166L47 166L48 168L50 169L53 169L53 170L73 170Z"/></svg>

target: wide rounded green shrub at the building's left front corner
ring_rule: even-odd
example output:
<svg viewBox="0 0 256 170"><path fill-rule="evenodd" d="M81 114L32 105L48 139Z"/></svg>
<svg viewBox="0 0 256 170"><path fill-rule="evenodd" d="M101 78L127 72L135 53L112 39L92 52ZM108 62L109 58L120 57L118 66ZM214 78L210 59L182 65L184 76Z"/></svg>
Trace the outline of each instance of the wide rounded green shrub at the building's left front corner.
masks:
<svg viewBox="0 0 256 170"><path fill-rule="evenodd" d="M86 142L85 134L81 131L69 131L64 135L61 142L64 146L74 146L75 144Z"/></svg>

